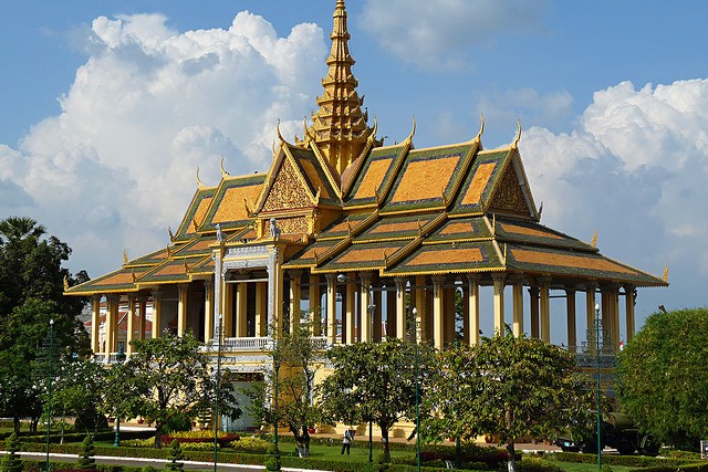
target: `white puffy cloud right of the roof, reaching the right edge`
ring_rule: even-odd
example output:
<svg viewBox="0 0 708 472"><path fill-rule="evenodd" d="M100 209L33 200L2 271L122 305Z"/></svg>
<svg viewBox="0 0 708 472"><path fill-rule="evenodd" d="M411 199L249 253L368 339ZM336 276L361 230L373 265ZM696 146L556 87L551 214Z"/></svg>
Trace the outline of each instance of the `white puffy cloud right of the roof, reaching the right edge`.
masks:
<svg viewBox="0 0 708 472"><path fill-rule="evenodd" d="M534 127L520 145L545 224L586 241L600 230L603 253L657 275L668 263L688 306L705 304L708 275L707 101L707 80L625 82L596 92L572 133ZM666 296L653 291L645 313Z"/></svg>

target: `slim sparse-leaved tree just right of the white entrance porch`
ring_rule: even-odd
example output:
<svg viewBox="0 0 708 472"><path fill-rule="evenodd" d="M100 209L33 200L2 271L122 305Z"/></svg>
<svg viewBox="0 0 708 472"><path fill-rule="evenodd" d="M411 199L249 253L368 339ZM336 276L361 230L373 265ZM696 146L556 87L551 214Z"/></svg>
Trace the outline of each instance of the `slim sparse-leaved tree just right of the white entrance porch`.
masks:
<svg viewBox="0 0 708 472"><path fill-rule="evenodd" d="M310 455L309 428L322 418L313 403L314 376L321 361L309 325L298 325L283 333L273 347L275 373L266 375L264 381L254 382L246 391L251 400L251 412L263 424L285 422L292 432L300 457ZM272 401L278 382L278 408Z"/></svg>

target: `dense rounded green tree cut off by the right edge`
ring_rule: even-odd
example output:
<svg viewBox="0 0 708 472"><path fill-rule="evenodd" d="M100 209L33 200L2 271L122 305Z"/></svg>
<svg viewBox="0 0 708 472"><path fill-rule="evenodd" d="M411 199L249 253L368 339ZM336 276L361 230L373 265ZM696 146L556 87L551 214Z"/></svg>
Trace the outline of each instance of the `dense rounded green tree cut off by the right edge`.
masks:
<svg viewBox="0 0 708 472"><path fill-rule="evenodd" d="M650 315L618 355L622 411L657 440L697 448L708 434L708 308Z"/></svg>

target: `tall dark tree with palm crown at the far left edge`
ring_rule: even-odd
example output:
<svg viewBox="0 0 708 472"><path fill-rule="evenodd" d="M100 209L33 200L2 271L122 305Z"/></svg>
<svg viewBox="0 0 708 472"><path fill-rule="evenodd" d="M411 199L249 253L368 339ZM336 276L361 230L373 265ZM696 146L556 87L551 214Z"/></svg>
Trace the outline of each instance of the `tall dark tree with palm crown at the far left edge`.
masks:
<svg viewBox="0 0 708 472"><path fill-rule="evenodd" d="M31 218L0 221L0 412L14 419L15 431L21 417L35 419L41 411L35 358L49 321L54 321L64 358L90 353L88 337L76 319L86 301L63 296L64 280L88 279L84 271L73 277L61 266L70 254L65 243L48 237Z"/></svg>

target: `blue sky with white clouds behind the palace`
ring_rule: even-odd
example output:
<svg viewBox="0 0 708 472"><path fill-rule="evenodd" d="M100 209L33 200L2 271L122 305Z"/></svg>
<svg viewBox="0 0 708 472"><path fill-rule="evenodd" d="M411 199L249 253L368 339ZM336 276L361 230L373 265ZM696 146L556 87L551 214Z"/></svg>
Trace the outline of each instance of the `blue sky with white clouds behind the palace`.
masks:
<svg viewBox="0 0 708 472"><path fill-rule="evenodd" d="M267 171L316 111L335 0L3 0L0 218L31 217L98 276L164 248L197 188ZM348 0L358 94L385 144L520 150L541 222L708 282L708 3ZM371 122L369 122L371 123ZM579 306L583 301L579 297ZM556 303L553 302L553 306ZM580 310L580 308L579 308ZM553 329L562 342L563 329Z"/></svg>

